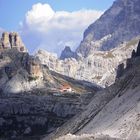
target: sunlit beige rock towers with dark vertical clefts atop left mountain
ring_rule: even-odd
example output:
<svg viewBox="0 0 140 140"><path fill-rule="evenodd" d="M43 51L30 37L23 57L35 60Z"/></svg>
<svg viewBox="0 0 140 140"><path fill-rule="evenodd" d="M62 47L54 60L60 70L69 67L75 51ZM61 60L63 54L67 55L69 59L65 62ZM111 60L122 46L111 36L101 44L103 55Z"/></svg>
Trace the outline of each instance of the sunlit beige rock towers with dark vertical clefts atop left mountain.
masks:
<svg viewBox="0 0 140 140"><path fill-rule="evenodd" d="M25 45L23 44L20 36L16 32L4 32L0 39L0 50L10 48L17 48L21 52L27 52Z"/></svg>

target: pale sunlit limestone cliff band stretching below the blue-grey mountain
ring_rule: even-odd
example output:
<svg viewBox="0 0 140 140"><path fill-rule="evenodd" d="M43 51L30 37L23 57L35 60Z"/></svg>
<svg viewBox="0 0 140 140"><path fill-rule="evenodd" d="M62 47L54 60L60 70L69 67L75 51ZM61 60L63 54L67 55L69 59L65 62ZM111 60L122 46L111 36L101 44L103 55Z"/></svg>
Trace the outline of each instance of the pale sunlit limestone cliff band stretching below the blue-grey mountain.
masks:
<svg viewBox="0 0 140 140"><path fill-rule="evenodd" d="M36 57L51 70L105 87L114 83L118 65L124 62L125 66L126 59L131 57L138 41L139 38L134 38L129 42L124 42L118 48L104 52L95 51L79 60L74 58L59 60L45 51L39 51Z"/></svg>

